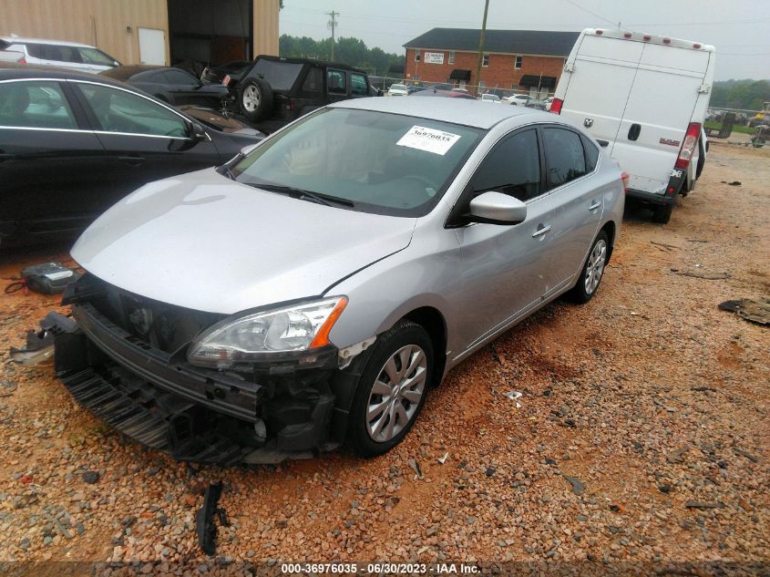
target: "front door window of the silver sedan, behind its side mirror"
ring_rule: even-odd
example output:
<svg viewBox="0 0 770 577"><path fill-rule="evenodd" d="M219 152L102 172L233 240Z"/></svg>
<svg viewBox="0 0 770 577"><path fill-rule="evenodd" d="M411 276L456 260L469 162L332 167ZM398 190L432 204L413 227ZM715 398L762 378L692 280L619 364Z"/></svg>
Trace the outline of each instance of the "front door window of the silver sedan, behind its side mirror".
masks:
<svg viewBox="0 0 770 577"><path fill-rule="evenodd" d="M518 132L499 143L483 160L471 181L473 196L487 191L519 201L540 195L540 155L534 129Z"/></svg>

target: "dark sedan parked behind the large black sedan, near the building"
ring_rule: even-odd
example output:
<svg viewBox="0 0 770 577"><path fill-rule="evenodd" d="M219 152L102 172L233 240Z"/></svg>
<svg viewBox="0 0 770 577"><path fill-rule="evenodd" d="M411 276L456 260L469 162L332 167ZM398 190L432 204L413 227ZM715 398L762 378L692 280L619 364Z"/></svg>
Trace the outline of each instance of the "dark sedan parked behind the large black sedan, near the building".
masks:
<svg viewBox="0 0 770 577"><path fill-rule="evenodd" d="M221 84L204 84L180 68L114 67L99 76L120 80L174 106L195 104L220 108L222 100L231 98L227 88Z"/></svg>

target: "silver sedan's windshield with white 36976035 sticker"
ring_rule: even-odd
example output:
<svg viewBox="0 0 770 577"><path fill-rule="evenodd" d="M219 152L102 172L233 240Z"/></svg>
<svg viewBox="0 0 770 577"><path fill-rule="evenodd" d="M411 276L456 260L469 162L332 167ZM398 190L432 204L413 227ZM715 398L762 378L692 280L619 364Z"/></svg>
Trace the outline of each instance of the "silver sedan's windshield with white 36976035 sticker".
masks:
<svg viewBox="0 0 770 577"><path fill-rule="evenodd" d="M255 187L309 191L352 210L423 216L485 131L371 110L326 108L257 147L231 171Z"/></svg>

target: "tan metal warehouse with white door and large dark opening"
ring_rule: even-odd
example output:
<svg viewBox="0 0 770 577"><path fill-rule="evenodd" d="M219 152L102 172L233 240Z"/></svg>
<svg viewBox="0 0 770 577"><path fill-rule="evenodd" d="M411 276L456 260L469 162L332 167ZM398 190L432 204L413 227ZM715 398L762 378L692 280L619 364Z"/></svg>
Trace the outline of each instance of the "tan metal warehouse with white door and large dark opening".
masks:
<svg viewBox="0 0 770 577"><path fill-rule="evenodd" d="M0 0L0 36L97 46L123 64L278 54L280 0Z"/></svg>

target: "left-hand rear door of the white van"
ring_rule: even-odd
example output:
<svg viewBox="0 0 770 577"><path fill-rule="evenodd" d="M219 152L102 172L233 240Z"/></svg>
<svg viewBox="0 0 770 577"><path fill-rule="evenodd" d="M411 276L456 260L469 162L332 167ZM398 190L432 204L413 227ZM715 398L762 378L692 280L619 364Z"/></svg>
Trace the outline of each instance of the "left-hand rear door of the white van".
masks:
<svg viewBox="0 0 770 577"><path fill-rule="evenodd" d="M595 139L614 142L644 45L606 36L582 36L568 75L561 116ZM564 77L562 77L564 78Z"/></svg>

